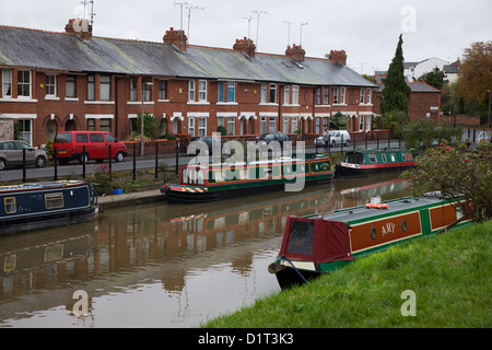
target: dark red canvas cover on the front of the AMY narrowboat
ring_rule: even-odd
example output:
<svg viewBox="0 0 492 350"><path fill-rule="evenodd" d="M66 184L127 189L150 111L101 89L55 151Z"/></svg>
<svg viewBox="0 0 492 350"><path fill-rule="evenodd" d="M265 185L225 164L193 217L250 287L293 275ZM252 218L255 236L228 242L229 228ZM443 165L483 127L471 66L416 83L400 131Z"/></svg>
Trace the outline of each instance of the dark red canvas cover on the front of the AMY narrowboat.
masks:
<svg viewBox="0 0 492 350"><path fill-rule="evenodd" d="M349 225L324 219L289 217L280 256L315 264L351 261Z"/></svg>

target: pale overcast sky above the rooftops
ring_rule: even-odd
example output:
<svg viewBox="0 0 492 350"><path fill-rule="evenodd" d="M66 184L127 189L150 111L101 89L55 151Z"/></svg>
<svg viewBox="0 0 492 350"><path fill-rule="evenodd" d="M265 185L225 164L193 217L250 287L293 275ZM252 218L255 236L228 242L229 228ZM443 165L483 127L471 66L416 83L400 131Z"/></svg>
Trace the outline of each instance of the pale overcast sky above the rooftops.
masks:
<svg viewBox="0 0 492 350"><path fill-rule="evenodd" d="M0 0L0 24L63 32L69 19L84 15L82 2ZM187 33L192 45L232 48L248 36L246 18L253 18L256 42L254 11L260 11L258 51L283 55L289 37L300 44L301 23L307 22L306 56L344 49L348 66L362 73L387 70L401 33L406 61L452 62L472 43L492 40L491 0L94 0L93 35L162 42L166 30L180 27L178 3L194 7ZM187 32L186 8L183 27Z"/></svg>

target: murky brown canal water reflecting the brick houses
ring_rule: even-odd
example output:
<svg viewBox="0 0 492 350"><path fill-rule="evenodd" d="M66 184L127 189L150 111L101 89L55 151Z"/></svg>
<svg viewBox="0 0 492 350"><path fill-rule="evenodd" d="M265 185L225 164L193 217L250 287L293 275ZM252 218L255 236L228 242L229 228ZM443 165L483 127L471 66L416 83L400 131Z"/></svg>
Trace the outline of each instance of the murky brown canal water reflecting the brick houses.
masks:
<svg viewBox="0 0 492 350"><path fill-rule="evenodd" d="M286 215L410 195L398 175L207 205L157 202L0 237L0 327L198 327L280 288L267 267ZM79 291L85 315L74 315ZM77 304L78 305L78 304Z"/></svg>

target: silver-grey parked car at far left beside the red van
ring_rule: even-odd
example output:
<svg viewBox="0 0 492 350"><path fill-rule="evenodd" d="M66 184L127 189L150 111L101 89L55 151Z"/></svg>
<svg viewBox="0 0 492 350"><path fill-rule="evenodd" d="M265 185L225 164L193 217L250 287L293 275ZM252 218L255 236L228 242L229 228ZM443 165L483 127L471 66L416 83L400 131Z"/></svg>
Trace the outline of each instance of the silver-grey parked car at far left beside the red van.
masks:
<svg viewBox="0 0 492 350"><path fill-rule="evenodd" d="M19 166L23 162L23 149L25 149L26 164L34 164L44 167L48 160L45 151L33 148L23 141L7 140L0 141L0 171L7 166Z"/></svg>

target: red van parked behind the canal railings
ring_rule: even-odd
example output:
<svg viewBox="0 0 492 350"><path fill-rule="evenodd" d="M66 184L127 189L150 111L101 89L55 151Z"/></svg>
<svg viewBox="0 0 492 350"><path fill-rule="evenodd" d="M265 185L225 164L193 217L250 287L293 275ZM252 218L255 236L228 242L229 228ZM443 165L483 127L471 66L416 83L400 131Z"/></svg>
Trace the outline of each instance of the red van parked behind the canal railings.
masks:
<svg viewBox="0 0 492 350"><path fill-rule="evenodd" d="M52 141L52 149L57 150L60 164L67 164L72 160L78 160L81 164L87 163L89 160L102 162L109 159L109 145L110 156L116 162L122 162L128 155L125 143L106 131L62 131L58 132Z"/></svg>

